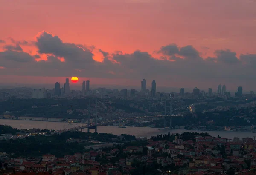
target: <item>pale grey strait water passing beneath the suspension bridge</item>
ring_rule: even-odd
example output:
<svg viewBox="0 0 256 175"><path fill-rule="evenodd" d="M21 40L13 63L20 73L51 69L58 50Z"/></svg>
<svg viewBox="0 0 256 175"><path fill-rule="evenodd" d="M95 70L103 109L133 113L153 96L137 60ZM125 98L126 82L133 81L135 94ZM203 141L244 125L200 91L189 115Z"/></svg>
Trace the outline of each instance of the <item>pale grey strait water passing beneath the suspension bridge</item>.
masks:
<svg viewBox="0 0 256 175"><path fill-rule="evenodd" d="M2 125L10 125L17 129L66 129L66 128L73 128L75 126L84 125L82 123L66 123L66 122L48 122L48 121L31 121L31 120L6 120L0 119L0 124ZM84 129L84 131L87 129ZM91 132L94 130L91 129ZM126 128L119 128L116 126L98 126L99 133L112 133L115 135L120 134L130 134L135 135L137 137L147 137L150 138L152 135L157 134L167 134L168 132L172 133L182 133L182 132L208 132L210 135L217 137L220 135L222 138L246 138L251 137L253 138L256 136L256 133L252 132L235 132L235 131L190 131L190 130L182 130L182 129L165 129L165 130L158 130L157 128L148 128L148 127L126 127Z"/></svg>

